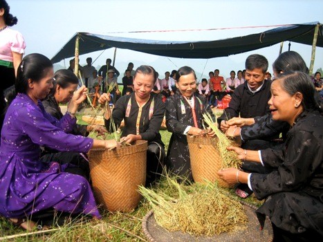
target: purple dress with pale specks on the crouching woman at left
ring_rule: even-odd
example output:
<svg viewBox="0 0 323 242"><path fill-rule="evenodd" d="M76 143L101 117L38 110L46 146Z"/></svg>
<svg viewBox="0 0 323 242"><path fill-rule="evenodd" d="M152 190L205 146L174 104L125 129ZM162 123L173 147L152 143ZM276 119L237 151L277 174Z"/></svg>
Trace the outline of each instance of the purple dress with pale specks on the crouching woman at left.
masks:
<svg viewBox="0 0 323 242"><path fill-rule="evenodd" d="M100 218L93 192L82 176L64 172L57 162L39 161L41 149L87 152L91 138L68 134L76 119L56 120L25 94L6 113L0 147L0 215L21 218L54 207L58 211Z"/></svg>

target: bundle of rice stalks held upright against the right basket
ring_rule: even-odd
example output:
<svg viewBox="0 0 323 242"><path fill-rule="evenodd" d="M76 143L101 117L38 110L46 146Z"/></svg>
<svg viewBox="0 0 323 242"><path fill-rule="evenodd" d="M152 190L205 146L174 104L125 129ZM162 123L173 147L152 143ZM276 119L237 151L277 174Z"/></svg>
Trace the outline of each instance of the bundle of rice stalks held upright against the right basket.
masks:
<svg viewBox="0 0 323 242"><path fill-rule="evenodd" d="M209 113L203 113L203 119L205 123L214 131L215 136L218 138L217 148L219 149L220 156L222 158L222 168L237 168L241 167L241 160L237 158L237 153L234 151L228 151L228 146L234 146L232 140L229 140L225 134L218 129L216 124L213 123L211 115Z"/></svg>

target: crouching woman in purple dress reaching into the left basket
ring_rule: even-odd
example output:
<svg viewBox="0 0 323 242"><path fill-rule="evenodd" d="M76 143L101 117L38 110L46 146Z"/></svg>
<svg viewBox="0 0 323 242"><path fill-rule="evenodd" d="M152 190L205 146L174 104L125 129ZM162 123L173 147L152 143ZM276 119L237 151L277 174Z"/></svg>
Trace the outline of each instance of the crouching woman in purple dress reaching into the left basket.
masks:
<svg viewBox="0 0 323 242"><path fill-rule="evenodd" d="M6 111L1 130L0 215L26 230L36 227L33 221L26 222L26 216L30 219L48 209L100 218L88 181L64 172L66 166L57 162L39 161L40 146L88 152L118 145L114 140L68 134L76 123L77 107L86 98L85 86L75 92L62 119L46 113L40 100L53 88L53 77L53 64L47 57L24 57L17 72L17 96Z"/></svg>

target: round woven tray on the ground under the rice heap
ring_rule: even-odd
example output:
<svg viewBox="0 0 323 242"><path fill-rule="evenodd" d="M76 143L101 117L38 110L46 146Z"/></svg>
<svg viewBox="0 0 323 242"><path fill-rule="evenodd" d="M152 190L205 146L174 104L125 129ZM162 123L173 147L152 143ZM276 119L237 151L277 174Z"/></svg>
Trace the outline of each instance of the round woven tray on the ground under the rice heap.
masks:
<svg viewBox="0 0 323 242"><path fill-rule="evenodd" d="M148 212L142 220L142 230L150 242L169 242L169 241L273 241L273 226L269 218L266 218L264 229L260 230L260 225L255 214L257 207L248 203L243 203L243 208L248 216L247 227L244 230L235 232L223 232L214 236L194 236L183 232L169 232L156 223L154 212Z"/></svg>

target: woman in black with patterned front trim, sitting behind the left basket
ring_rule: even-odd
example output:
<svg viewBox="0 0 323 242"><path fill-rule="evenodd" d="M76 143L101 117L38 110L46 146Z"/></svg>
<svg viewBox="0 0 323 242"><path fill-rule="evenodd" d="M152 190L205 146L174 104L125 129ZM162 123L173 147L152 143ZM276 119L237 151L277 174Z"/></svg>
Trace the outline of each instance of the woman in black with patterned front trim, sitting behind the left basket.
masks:
<svg viewBox="0 0 323 242"><path fill-rule="evenodd" d="M164 144L159 129L165 115L165 104L160 95L151 92L156 82L156 71L151 66L139 66L133 76L133 93L124 95L116 102L112 111L115 127L124 120L122 138L127 143L147 140L147 176L146 185L154 183L163 171L165 157ZM99 103L109 101L109 93L103 93ZM109 131L111 112L104 113L104 124Z"/></svg>

